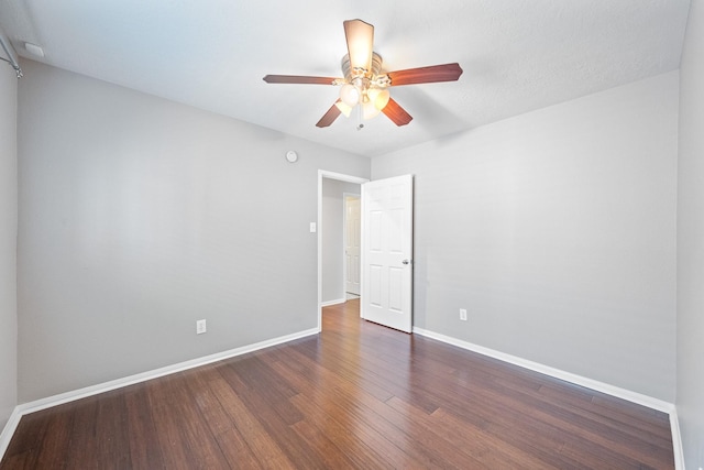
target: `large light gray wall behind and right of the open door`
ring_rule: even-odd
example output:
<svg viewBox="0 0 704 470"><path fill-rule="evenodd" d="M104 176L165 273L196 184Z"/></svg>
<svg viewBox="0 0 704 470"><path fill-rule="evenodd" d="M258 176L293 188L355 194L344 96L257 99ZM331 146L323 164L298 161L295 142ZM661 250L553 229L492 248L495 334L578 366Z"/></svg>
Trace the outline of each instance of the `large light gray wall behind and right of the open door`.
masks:
<svg viewBox="0 0 704 470"><path fill-rule="evenodd" d="M373 159L415 174L415 326L673 402L678 80Z"/></svg>

